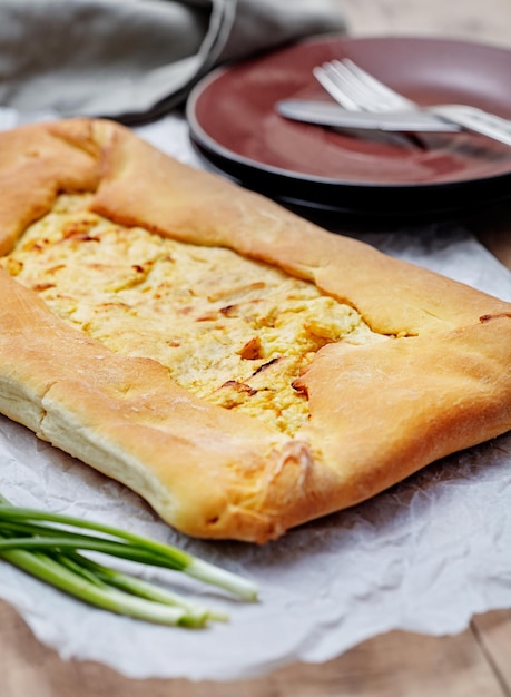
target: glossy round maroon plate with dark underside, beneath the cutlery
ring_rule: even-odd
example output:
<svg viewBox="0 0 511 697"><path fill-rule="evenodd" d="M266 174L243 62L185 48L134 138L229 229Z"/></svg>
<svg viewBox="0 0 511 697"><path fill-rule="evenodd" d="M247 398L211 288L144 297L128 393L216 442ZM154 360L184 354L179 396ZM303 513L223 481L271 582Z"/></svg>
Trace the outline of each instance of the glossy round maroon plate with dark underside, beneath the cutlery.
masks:
<svg viewBox="0 0 511 697"><path fill-rule="evenodd" d="M199 153L276 198L387 213L455 209L511 195L511 148L483 136L341 131L279 116L279 99L330 97L314 66L351 58L419 104L463 102L511 118L511 51L429 38L314 38L219 69L187 105Z"/></svg>

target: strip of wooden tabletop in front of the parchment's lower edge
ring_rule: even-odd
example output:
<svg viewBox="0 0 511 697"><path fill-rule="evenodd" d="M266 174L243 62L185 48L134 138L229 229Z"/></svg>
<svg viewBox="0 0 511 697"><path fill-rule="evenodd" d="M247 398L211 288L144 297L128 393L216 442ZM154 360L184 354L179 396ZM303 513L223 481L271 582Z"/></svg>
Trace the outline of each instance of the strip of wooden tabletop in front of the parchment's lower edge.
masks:
<svg viewBox="0 0 511 697"><path fill-rule="evenodd" d="M324 665L297 665L233 683L131 680L94 662L61 661L37 641L14 610L0 602L2 697L508 697L487 651L505 671L511 611L493 612L480 627L449 637L393 631ZM487 626L484 627L484 622ZM503 644L507 641L507 644ZM490 645L493 642L493 647ZM509 675L505 677L508 684Z"/></svg>

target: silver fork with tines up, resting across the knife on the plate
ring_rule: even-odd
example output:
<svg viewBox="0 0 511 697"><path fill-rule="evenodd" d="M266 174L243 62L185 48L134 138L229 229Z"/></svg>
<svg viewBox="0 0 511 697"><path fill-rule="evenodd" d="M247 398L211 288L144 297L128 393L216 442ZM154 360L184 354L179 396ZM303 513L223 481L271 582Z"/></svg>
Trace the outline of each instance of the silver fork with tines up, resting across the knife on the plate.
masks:
<svg viewBox="0 0 511 697"><path fill-rule="evenodd" d="M511 146L511 121L468 105L421 107L380 82L348 58L323 63L314 68L313 72L326 91L350 111L426 110L464 130Z"/></svg>

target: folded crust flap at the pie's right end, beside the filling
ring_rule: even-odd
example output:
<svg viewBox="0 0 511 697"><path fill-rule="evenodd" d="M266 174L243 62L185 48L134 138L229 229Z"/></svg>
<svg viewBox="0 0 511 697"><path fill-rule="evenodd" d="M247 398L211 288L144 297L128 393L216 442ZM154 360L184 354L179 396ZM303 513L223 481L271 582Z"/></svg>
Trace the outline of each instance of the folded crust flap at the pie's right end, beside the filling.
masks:
<svg viewBox="0 0 511 697"><path fill-rule="evenodd" d="M307 435L345 477L335 508L366 499L375 481L384 489L508 431L510 365L507 316L435 336L325 346L301 382L313 415Z"/></svg>

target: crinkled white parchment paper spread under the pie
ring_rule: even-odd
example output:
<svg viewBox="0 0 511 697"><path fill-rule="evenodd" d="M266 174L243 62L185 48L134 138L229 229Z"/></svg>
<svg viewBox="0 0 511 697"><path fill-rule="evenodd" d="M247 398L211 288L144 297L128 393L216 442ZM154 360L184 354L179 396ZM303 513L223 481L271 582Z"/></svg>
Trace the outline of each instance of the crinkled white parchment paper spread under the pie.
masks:
<svg viewBox="0 0 511 697"><path fill-rule="evenodd" d="M143 137L200 166L178 117ZM367 240L511 300L511 274L463 229L430 226ZM0 418L0 491L18 504L102 520L176 543L252 578L261 601L236 602L181 576L171 582L230 622L157 627L80 603L0 562L0 596L62 658L126 676L235 679L292 661L325 661L391 629L463 630L472 615L511 607L511 434L434 463L375 499L258 548L190 540L120 484Z"/></svg>

